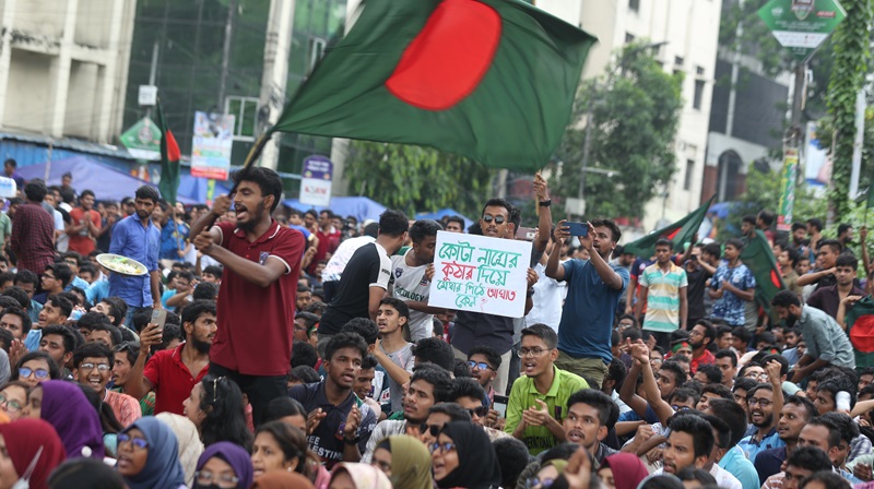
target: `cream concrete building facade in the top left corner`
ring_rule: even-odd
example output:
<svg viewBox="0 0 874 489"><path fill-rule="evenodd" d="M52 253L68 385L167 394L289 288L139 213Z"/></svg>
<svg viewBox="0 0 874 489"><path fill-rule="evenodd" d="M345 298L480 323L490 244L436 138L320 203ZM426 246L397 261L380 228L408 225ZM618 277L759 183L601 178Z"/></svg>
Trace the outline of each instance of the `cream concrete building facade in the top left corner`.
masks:
<svg viewBox="0 0 874 489"><path fill-rule="evenodd" d="M0 131L110 143L135 0L0 0Z"/></svg>

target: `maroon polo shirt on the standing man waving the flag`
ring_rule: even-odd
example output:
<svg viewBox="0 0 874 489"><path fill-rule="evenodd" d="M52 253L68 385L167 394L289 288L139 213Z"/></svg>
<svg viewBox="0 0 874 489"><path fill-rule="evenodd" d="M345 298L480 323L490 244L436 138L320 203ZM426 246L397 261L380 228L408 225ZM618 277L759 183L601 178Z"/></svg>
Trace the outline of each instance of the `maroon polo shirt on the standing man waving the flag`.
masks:
<svg viewBox="0 0 874 489"><path fill-rule="evenodd" d="M291 369L297 277L306 239L275 220L255 242L231 223L216 226L222 247L238 257L264 264L281 260L285 274L259 287L234 273L222 273L218 288L218 331L210 348L210 361L244 375L285 375Z"/></svg>

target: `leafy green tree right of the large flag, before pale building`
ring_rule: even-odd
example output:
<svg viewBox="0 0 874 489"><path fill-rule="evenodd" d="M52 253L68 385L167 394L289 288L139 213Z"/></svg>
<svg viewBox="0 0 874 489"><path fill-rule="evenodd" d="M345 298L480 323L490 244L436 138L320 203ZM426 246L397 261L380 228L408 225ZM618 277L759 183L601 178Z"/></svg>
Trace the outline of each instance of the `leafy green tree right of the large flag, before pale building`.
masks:
<svg viewBox="0 0 874 489"><path fill-rule="evenodd" d="M580 84L574 115L553 163L554 193L577 196L586 115L591 148L584 175L586 214L642 217L676 170L674 140L683 108L682 73L665 73L646 44L626 45L603 76ZM594 169L594 171L592 171ZM601 171L598 171L598 170Z"/></svg>

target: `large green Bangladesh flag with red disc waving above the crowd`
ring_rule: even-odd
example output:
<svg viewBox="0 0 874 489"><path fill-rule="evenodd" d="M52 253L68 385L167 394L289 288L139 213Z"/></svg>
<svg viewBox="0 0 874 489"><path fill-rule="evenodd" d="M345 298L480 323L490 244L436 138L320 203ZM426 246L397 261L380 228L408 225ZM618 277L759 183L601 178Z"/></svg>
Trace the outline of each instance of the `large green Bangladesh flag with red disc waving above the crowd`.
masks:
<svg viewBox="0 0 874 489"><path fill-rule="evenodd" d="M521 0L366 0L271 131L543 167L594 38Z"/></svg>

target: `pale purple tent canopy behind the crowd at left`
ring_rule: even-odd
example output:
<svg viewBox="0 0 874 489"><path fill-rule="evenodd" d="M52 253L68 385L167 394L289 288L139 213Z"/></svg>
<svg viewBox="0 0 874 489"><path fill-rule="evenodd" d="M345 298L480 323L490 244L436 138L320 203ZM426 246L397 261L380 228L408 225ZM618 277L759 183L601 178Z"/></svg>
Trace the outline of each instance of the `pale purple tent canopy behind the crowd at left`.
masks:
<svg viewBox="0 0 874 489"><path fill-rule="evenodd" d="M45 163L38 165L27 165L17 168L17 172L25 180L46 177ZM73 188L79 192L92 190L97 200L120 201L126 196L133 196L141 186L157 187L152 182L140 180L111 166L90 159L85 156L74 156L72 158L51 162L49 167L48 186L61 184L61 176L66 172L73 176ZM178 201L184 204L196 204L196 201L182 195L178 195Z"/></svg>

